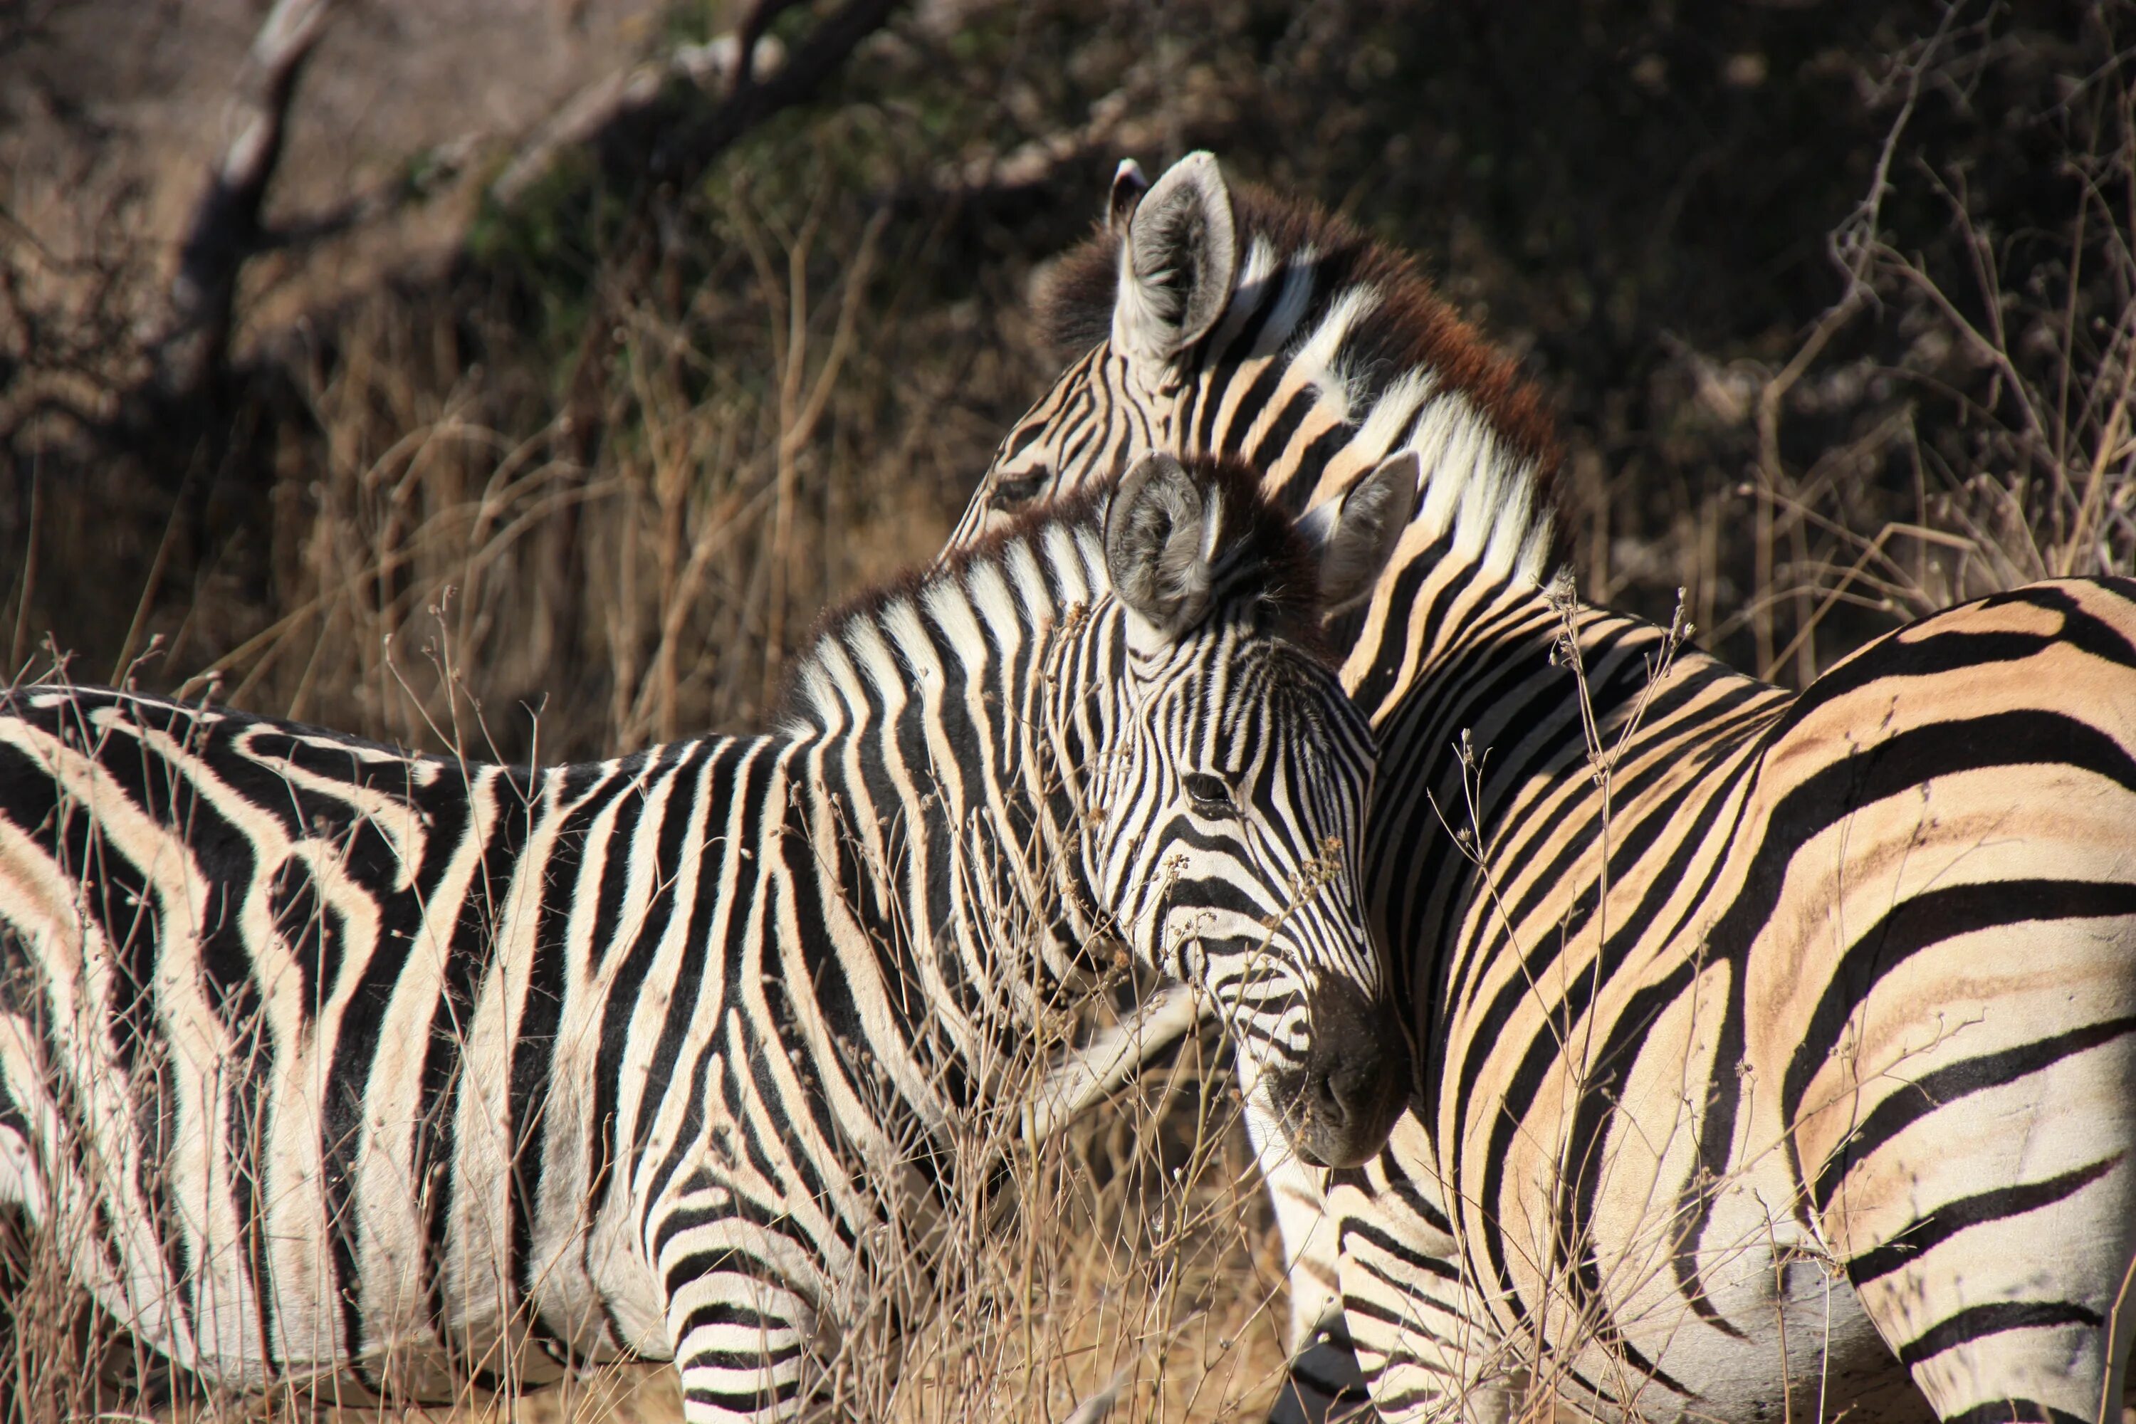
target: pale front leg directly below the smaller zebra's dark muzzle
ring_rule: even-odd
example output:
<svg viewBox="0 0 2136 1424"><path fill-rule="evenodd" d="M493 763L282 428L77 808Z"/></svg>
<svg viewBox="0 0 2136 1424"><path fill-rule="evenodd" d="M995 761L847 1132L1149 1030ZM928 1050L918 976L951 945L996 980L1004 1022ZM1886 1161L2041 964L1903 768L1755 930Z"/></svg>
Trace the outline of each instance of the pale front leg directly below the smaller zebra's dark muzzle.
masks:
<svg viewBox="0 0 2136 1424"><path fill-rule="evenodd" d="M1284 1142L1282 1129L1260 1112L1245 1114L1245 1136L1254 1142L1260 1176L1275 1204L1290 1283L1290 1334L1284 1341L1290 1366L1269 1409L1269 1424L1367 1420L1371 1398L1341 1313L1335 1219L1322 1189L1326 1172L1301 1161Z"/></svg>

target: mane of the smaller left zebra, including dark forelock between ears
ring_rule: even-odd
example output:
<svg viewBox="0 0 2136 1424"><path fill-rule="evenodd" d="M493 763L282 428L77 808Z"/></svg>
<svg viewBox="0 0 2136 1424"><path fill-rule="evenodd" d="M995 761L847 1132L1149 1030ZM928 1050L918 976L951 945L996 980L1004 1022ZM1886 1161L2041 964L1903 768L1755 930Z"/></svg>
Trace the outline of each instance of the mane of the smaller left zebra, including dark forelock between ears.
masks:
<svg viewBox="0 0 2136 1424"><path fill-rule="evenodd" d="M1252 619L1333 666L1320 632L1318 559L1299 534L1297 519L1262 493L1260 474L1243 461L1192 455L1181 463L1215 487L1224 510L1224 553L1203 623ZM807 651L786 675L775 702L778 726L820 726L824 713L850 713L850 702L835 692L837 679L827 675L827 658L844 653L844 662L854 668L880 666L878 660L854 658L857 645L880 636L897 649L912 636L912 617L929 617L925 608L938 587L955 589L980 621L1002 602L985 598L980 585L1006 589L1017 604L1015 617L1025 628L1040 611L1017 594L1034 572L1045 581L1053 611L1111 594L1104 512L1117 487L1119 476L1109 476L1040 504L936 564L918 564L833 606L816 621Z"/></svg>

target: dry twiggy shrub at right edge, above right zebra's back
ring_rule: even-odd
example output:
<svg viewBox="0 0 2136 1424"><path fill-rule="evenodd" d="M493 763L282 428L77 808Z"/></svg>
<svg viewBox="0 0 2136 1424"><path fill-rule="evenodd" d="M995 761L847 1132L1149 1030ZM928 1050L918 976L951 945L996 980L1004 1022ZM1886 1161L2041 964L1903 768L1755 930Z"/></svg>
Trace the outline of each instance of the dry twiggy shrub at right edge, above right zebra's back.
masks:
<svg viewBox="0 0 2136 1424"><path fill-rule="evenodd" d="M1655 527L1574 468L1583 583L1690 585L1709 647L1796 687L1950 602L2136 561L2136 6L1935 19L1854 73L1886 128L1824 310L1766 359L1668 339L1672 444L1741 478Z"/></svg>

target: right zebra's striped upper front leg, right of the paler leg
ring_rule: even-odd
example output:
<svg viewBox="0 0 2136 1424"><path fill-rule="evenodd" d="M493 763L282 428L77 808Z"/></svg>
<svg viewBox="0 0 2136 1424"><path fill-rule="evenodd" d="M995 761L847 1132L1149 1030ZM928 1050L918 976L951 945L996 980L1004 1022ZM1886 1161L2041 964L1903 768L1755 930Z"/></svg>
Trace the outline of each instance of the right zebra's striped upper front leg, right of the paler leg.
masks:
<svg viewBox="0 0 2136 1424"><path fill-rule="evenodd" d="M1431 1142L1414 1114L1363 1172L1329 1183L1341 1304L1386 1424L1504 1424L1519 1407L1497 1328L1461 1270Z"/></svg>

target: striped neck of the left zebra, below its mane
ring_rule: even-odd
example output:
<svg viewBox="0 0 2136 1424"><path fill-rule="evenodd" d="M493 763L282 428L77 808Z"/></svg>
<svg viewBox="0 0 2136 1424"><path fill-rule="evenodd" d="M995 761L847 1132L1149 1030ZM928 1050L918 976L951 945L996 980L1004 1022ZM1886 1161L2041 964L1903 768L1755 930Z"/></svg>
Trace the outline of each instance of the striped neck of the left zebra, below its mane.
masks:
<svg viewBox="0 0 2136 1424"><path fill-rule="evenodd" d="M1064 769L1106 739L1091 717L1109 700L1072 696L1094 621L1025 628L1010 645L1021 651L991 668L852 698L837 730L799 737L790 758L790 824L807 826L827 899L867 946L912 1055L944 1085L940 1106L985 1106L1004 1072L1036 1061L1034 1027L1059 1020L1089 978L1081 788ZM970 715L959 677L989 681L985 717Z"/></svg>

